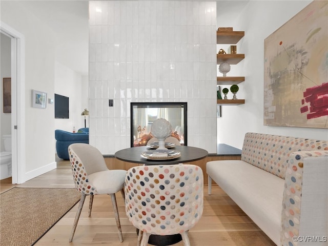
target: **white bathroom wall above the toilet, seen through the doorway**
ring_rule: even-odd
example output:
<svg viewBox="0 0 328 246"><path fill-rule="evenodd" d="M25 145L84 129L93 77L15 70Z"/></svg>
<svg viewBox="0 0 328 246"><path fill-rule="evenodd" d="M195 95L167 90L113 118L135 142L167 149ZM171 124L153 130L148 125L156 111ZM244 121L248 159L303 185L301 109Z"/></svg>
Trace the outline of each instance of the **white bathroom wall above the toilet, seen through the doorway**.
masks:
<svg viewBox="0 0 328 246"><path fill-rule="evenodd" d="M10 54L10 47L11 47L11 40L9 37L1 33L0 37L0 76L1 76L1 83L0 83L0 152L5 151L4 149L4 139L2 138L3 135L11 134L11 113L4 113L4 103L3 103L3 78L10 78L11 77L11 54Z"/></svg>

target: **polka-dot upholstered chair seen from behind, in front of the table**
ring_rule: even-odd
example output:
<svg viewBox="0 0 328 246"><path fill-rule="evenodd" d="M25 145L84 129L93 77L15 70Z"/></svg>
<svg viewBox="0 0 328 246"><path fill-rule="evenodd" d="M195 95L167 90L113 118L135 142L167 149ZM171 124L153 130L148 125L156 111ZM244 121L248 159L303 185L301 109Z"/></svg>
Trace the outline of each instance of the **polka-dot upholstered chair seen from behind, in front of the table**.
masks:
<svg viewBox="0 0 328 246"><path fill-rule="evenodd" d="M130 222L139 229L137 245L146 246L150 235L181 234L188 246L188 230L203 212L202 170L183 164L131 168L125 204Z"/></svg>

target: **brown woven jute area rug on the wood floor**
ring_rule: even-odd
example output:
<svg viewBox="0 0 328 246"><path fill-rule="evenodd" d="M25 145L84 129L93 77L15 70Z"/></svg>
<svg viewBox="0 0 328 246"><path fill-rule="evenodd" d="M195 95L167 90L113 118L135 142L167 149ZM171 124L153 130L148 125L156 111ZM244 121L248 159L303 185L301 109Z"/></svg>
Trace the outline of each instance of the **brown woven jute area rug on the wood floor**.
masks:
<svg viewBox="0 0 328 246"><path fill-rule="evenodd" d="M33 245L80 196L75 189L61 188L15 187L0 194L0 245Z"/></svg>

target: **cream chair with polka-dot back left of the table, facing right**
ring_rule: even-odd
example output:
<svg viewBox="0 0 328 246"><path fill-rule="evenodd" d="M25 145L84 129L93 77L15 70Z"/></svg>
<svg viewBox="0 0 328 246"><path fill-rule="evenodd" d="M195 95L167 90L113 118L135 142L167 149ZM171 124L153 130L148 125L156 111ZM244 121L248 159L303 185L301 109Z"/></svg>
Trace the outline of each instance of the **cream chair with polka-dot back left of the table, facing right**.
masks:
<svg viewBox="0 0 328 246"><path fill-rule="evenodd" d="M70 242L73 240L78 219L87 195L90 195L89 216L91 216L93 196L109 194L112 199L118 229L119 241L123 241L115 193L121 191L124 197L124 181L127 171L109 170L104 156L98 149L88 144L72 144L68 147L75 188L81 192Z"/></svg>

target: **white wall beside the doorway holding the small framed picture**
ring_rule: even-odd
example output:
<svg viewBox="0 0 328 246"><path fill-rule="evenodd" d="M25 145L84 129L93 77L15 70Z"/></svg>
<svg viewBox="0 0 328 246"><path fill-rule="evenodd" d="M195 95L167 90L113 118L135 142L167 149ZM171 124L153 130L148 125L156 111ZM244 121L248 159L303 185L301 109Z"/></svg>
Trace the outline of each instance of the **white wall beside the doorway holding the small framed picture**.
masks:
<svg viewBox="0 0 328 246"><path fill-rule="evenodd" d="M25 173L53 165L53 108L32 108L32 90L54 93L54 44L46 26L18 2L1 2L1 19L25 36ZM19 127L19 126L18 126Z"/></svg>

